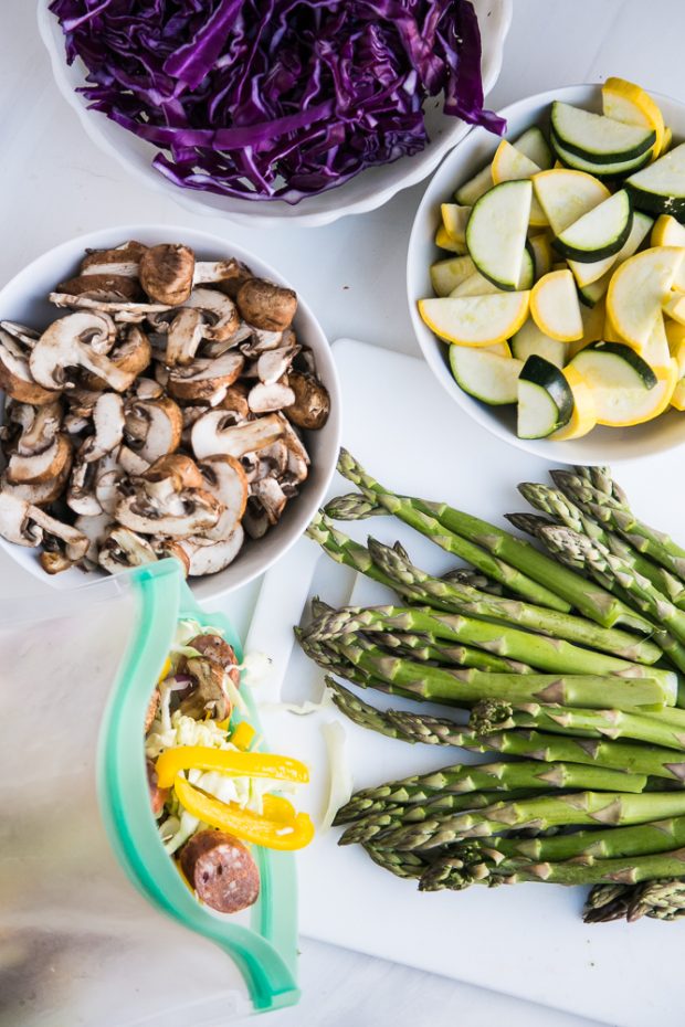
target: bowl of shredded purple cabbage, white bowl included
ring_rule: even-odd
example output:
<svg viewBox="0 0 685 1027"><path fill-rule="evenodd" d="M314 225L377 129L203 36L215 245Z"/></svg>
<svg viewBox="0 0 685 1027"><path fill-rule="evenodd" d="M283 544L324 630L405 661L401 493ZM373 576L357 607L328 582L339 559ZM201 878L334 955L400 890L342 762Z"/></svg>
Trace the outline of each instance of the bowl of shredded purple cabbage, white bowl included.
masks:
<svg viewBox="0 0 685 1027"><path fill-rule="evenodd" d="M502 63L510 0L40 0L91 137L194 212L323 224L428 176Z"/></svg>

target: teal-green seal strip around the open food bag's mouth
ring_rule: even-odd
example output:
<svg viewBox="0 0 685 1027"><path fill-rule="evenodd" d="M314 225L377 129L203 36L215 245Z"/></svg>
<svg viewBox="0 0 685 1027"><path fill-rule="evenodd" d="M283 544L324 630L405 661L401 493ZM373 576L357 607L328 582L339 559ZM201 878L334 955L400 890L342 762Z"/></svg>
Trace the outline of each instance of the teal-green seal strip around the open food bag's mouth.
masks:
<svg viewBox="0 0 685 1027"><path fill-rule="evenodd" d="M255 847L260 898L251 927L209 912L183 883L165 851L150 811L145 761L138 740L149 702L171 648L179 620L219 627L242 663L240 639L221 614L205 614L194 602L176 560L130 573L136 596L136 634L128 644L101 727L98 794L105 829L131 882L158 909L190 931L223 949L239 967L253 1007L266 1012L299 998L297 960L297 887L294 858ZM256 709L244 686L241 695L250 722L260 730Z"/></svg>

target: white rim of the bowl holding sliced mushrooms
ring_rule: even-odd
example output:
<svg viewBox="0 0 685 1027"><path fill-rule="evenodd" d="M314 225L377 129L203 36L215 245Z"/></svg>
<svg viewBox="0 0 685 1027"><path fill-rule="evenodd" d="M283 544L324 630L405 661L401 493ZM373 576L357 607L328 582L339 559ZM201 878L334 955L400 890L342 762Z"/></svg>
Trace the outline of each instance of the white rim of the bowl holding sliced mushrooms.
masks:
<svg viewBox="0 0 685 1027"><path fill-rule="evenodd" d="M122 225L106 225L99 229L94 229L89 232L84 232L80 235L73 236L72 239L65 240L64 242L57 243L55 246L52 246L49 250L38 254L32 261L29 262L29 264L20 268L14 275L12 275L10 279L8 279L8 282L2 285L2 288L0 288L0 309L2 306L3 296L18 287L21 288L22 279L28 279L31 277L31 272L36 264L41 264L44 261L57 262L60 260L63 260L64 264L68 263L70 261L73 262L78 252L83 252L87 247L102 248L103 246L108 245L108 237L115 237L120 242L123 239L155 239L156 236L161 237L162 241L164 236L173 236L177 241L179 239L187 239L196 250L200 248L200 246L207 246L210 250L218 250L219 253L228 251L230 255L235 256L240 261L243 261L249 266L254 265L256 267L257 274L264 277L268 277L287 288L293 288L288 279L285 278L275 267L273 267L273 265L262 260L259 254L247 250L240 243L232 243L229 239L214 235L213 233L207 232L203 229L194 229L188 225L178 225L175 223L166 222L144 222ZM29 295L28 290L24 290L24 295ZM38 299L31 296L30 301L38 301ZM277 543L274 542L274 551L271 553L271 555L264 559L250 572L243 572L243 574L240 576L236 575L239 576L239 580L234 582L222 582L222 578L226 572L231 572L232 569L234 570L238 567L238 560L235 563L229 564L228 568L224 568L223 571L219 571L217 574L205 574L194 579L187 579L190 590L193 592L196 599L200 602L212 601L219 596L228 595L230 592L234 592L235 590L243 587L243 585L246 585L251 581L254 581L254 579L260 578L278 560L281 560L292 549L292 547L303 538L312 517L320 505L324 496L328 491L336 472L342 427L342 391L340 388L340 378L335 362L331 343L312 307L299 292L297 292L297 315L299 315L302 311L302 314L309 322L307 343L314 350L317 363L323 363L325 366L323 369L319 367L319 372L323 370L322 378L326 389L330 394L331 402L330 414L328 421L322 428L322 432L326 432L325 448L326 451L330 451L330 455L327 458L317 460L318 481L309 483L309 487L305 490L305 493L297 497L298 504L294 516L297 517L298 526L292 528L292 537L280 539ZM3 393L0 390L0 396L2 395ZM1 423L2 415L0 413L0 424ZM327 466L325 466L326 462ZM274 536L272 536L272 539L274 539ZM27 550L25 547L10 542L1 536L0 548L4 550L10 559L22 570L32 574L43 584L50 586L54 592L67 592L72 589L77 589L82 585L91 584L92 582L98 580L95 576L84 576L82 582L66 584L66 579L63 575L46 574L40 568L38 560L23 560L19 558L18 551L23 550L34 553L35 549L31 548ZM71 572L67 571L66 573L68 574ZM103 574L101 576L112 575ZM212 585L215 586L212 587Z"/></svg>

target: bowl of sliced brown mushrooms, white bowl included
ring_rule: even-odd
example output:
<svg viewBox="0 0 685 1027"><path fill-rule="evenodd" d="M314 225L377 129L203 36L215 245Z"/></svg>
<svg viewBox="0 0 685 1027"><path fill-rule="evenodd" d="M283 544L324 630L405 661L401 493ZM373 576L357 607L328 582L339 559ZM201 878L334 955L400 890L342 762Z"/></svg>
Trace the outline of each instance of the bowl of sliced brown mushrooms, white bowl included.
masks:
<svg viewBox="0 0 685 1027"><path fill-rule="evenodd" d="M165 557L200 599L304 532L339 447L306 303L190 229L91 233L0 290L0 544L55 587Z"/></svg>

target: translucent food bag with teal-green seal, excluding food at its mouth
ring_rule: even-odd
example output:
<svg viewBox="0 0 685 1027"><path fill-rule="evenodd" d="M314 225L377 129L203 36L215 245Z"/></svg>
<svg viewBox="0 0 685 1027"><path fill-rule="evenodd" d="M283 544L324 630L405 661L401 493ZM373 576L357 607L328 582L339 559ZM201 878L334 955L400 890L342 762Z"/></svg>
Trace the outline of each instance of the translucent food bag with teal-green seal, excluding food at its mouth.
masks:
<svg viewBox="0 0 685 1027"><path fill-rule="evenodd" d="M56 602L0 603L0 1025L219 1027L295 1003L292 855L255 847L257 902L215 913L150 811L143 724L177 624L242 661L230 623L173 560Z"/></svg>

